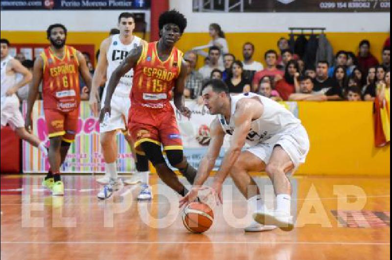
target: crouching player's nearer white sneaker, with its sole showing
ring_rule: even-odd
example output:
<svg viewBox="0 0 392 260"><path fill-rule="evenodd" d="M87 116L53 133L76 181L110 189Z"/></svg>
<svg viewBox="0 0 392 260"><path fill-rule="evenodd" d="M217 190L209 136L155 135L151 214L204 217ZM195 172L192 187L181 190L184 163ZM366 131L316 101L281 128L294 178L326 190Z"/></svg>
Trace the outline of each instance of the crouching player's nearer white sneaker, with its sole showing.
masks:
<svg viewBox="0 0 392 260"><path fill-rule="evenodd" d="M255 211L253 219L260 224L274 225L283 231L291 231L294 228L293 216L281 211Z"/></svg>

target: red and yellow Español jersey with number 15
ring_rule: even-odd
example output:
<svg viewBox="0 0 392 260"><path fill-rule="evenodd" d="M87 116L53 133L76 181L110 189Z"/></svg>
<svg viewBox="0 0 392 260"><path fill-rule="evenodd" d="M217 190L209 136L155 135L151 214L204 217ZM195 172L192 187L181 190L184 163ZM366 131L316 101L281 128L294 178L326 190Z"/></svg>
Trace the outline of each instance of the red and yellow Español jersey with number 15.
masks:
<svg viewBox="0 0 392 260"><path fill-rule="evenodd" d="M158 57L157 46L158 42L143 46L134 68L130 94L132 106L158 109L170 106L170 92L180 74L183 53L173 47L169 58L162 61Z"/></svg>

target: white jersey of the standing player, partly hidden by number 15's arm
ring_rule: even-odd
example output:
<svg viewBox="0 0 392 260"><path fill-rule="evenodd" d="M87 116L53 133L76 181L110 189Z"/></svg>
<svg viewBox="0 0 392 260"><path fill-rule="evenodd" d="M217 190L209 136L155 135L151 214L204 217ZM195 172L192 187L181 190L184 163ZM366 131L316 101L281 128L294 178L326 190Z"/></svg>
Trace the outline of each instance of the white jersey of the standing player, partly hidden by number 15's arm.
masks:
<svg viewBox="0 0 392 260"><path fill-rule="evenodd" d="M142 39L134 36L133 41L130 44L123 45L120 41L120 34L115 34L112 36L112 43L110 44L109 50L106 53L107 58L107 70L106 70L106 85L104 93L106 93L106 87L109 83L110 76L112 76L113 71L121 64L128 53L137 48L142 44ZM133 80L133 69L125 73L123 77L120 78L119 84L117 85L114 95L129 97L132 88Z"/></svg>

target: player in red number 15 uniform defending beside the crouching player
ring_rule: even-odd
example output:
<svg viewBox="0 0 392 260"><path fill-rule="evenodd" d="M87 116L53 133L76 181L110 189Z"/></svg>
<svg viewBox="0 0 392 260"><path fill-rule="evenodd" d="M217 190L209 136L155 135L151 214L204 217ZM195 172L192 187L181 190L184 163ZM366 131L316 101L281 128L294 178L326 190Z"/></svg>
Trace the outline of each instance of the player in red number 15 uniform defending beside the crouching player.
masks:
<svg viewBox="0 0 392 260"><path fill-rule="evenodd" d="M171 100L182 115L190 117L184 104L186 70L183 53L174 47L186 27L187 20L179 12L164 12L159 17L160 40L132 50L110 77L100 120L110 116L110 100L120 78L134 70L130 94L128 129L137 151L142 151L151 161L163 182L184 196L188 191L168 167L161 146L170 164L179 169L191 184L196 170L188 164L182 152L180 132L177 127ZM151 199L148 185L144 185L139 200Z"/></svg>

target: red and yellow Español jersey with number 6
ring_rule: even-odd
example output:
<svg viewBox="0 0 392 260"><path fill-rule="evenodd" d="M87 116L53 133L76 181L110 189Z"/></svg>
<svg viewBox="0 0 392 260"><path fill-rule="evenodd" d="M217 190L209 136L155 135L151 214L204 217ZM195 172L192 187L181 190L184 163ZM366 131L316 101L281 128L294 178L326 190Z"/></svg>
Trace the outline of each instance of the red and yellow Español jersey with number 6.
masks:
<svg viewBox="0 0 392 260"><path fill-rule="evenodd" d="M41 53L44 60L42 75L42 99L45 109L63 112L79 107L79 61L76 50L64 46L64 56L58 58L50 47Z"/></svg>

